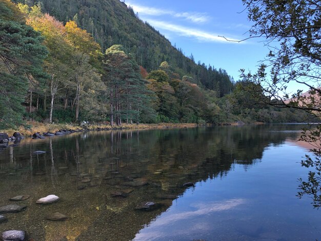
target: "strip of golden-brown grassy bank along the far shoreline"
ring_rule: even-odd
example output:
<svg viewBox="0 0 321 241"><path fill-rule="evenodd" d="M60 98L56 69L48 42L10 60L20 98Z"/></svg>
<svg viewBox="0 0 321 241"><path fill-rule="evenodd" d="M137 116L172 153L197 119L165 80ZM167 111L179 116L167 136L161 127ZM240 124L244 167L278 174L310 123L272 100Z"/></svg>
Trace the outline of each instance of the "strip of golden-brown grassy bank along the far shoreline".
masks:
<svg viewBox="0 0 321 241"><path fill-rule="evenodd" d="M14 132L18 131L24 136L30 136L33 133L40 132L56 132L61 129L66 130L76 130L82 129L81 127L73 124L48 124L48 123L40 123L40 122L27 122L29 128L25 128L23 126L16 129L7 129L0 130L0 132L5 132L9 136L13 135ZM122 125L122 126L111 126L107 124L94 124L89 125L89 129L93 128L110 128L110 129L163 129L163 128L190 128L196 127L197 124L194 123L160 123L160 124L133 124L133 125Z"/></svg>

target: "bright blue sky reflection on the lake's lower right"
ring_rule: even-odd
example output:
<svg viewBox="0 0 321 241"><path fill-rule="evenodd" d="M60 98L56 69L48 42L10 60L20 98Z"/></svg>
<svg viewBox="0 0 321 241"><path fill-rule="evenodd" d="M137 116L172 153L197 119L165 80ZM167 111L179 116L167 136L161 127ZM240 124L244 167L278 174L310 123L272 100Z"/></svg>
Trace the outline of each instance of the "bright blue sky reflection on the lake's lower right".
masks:
<svg viewBox="0 0 321 241"><path fill-rule="evenodd" d="M269 145L254 165L234 164L226 176L186 190L134 240L318 239L319 211L295 196L297 178L307 175L299 164L306 152L293 138Z"/></svg>

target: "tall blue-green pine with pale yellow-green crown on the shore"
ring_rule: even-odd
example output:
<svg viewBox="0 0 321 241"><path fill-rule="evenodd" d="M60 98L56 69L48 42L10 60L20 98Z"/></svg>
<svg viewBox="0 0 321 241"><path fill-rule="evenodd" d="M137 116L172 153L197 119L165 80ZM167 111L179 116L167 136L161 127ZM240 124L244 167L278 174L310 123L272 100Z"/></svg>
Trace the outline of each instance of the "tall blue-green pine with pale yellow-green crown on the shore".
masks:
<svg viewBox="0 0 321 241"><path fill-rule="evenodd" d="M122 45L113 45L104 56L103 79L109 87L110 123L139 122L142 112L152 114L147 87L139 66ZM155 115L152 114L152 115Z"/></svg>

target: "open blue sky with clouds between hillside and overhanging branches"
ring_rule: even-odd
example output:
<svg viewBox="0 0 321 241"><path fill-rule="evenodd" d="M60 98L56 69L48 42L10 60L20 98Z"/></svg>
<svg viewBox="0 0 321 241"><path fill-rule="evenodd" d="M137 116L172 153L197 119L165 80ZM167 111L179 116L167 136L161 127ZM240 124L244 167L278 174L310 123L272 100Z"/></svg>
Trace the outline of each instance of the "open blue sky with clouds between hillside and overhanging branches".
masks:
<svg viewBox="0 0 321 241"><path fill-rule="evenodd" d="M268 53L259 39L232 43L218 37L240 40L249 36L251 23L241 0L126 0L125 3L173 45L182 48L185 55L192 53L196 63L223 68L235 81L239 79L239 69L254 72Z"/></svg>

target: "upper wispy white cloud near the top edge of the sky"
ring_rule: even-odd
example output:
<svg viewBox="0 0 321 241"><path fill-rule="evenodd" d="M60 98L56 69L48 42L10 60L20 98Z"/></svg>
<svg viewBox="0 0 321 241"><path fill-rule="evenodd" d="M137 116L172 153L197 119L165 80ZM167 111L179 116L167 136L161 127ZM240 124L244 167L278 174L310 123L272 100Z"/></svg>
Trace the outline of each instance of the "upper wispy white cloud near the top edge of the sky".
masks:
<svg viewBox="0 0 321 241"><path fill-rule="evenodd" d="M171 15L177 18L184 18L193 23L206 23L210 21L211 17L207 13L199 12L175 12L167 9L146 7L141 5L136 5L129 3L135 12L139 14L151 15L151 16L162 16L162 15Z"/></svg>

